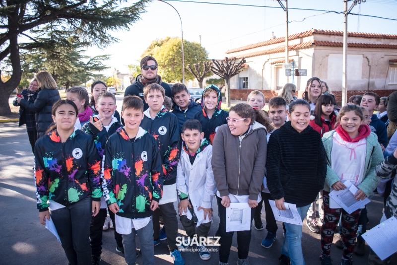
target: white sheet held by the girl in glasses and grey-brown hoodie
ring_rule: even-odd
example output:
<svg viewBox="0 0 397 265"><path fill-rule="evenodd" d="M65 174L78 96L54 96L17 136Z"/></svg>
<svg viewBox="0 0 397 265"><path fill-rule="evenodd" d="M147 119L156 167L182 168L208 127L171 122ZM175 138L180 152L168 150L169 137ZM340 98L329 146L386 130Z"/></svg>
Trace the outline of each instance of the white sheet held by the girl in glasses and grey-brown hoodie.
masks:
<svg viewBox="0 0 397 265"><path fill-rule="evenodd" d="M226 232L251 229L251 207L248 202L230 203L226 208Z"/></svg>

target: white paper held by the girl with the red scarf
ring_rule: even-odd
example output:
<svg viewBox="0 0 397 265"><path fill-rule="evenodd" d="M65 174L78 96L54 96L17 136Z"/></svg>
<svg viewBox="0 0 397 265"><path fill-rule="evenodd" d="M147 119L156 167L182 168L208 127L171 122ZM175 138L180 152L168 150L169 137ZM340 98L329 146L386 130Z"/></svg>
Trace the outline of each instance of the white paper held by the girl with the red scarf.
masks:
<svg viewBox="0 0 397 265"><path fill-rule="evenodd" d="M343 182L343 184L347 189L341 191L333 190L330 192L330 197L348 213L352 213L371 201L368 198L357 200L354 198L354 194L358 192L358 189L348 180Z"/></svg>

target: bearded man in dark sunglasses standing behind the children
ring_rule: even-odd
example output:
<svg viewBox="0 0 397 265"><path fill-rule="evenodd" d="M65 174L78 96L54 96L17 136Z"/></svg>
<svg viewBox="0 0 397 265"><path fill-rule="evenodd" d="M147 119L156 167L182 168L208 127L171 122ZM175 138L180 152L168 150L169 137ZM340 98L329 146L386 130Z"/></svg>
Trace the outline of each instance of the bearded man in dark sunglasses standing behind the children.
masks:
<svg viewBox="0 0 397 265"><path fill-rule="evenodd" d="M143 111L149 108L145 99L143 98L143 88L149 84L159 84L165 90L165 95L172 97L170 85L161 80L161 76L157 74L158 64L156 59L151 56L145 56L140 60L140 71L142 72L136 76L132 85L126 88L124 96L138 96L143 100Z"/></svg>

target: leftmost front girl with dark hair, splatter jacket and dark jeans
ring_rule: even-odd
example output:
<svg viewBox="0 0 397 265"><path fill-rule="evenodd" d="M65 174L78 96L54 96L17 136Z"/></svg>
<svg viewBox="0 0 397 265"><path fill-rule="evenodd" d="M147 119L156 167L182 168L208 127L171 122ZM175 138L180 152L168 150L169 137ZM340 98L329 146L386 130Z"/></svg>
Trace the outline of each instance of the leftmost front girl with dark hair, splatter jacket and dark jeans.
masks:
<svg viewBox="0 0 397 265"><path fill-rule="evenodd" d="M74 129L77 107L59 100L54 124L35 145L35 184L41 224L50 217L71 265L91 264L91 216L102 196L101 158L92 136Z"/></svg>

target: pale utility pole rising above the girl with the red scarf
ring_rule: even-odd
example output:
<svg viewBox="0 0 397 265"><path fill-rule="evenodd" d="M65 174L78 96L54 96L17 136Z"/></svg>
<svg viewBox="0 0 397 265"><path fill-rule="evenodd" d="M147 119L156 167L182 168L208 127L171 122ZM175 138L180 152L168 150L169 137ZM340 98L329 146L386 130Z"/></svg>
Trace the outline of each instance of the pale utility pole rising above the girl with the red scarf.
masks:
<svg viewBox="0 0 397 265"><path fill-rule="evenodd" d="M350 0L343 0L344 2L344 24L343 24L343 66L342 66L342 106L347 103L347 15L353 9L354 5L360 4L366 0L353 0L353 3L347 9L347 2Z"/></svg>

